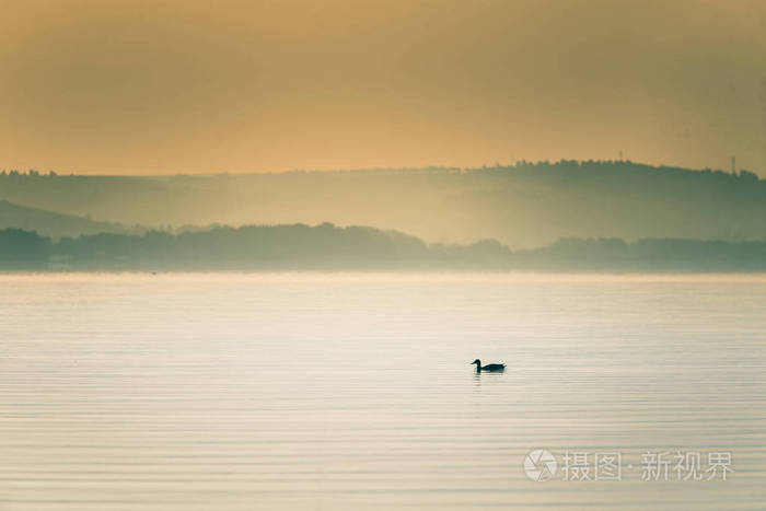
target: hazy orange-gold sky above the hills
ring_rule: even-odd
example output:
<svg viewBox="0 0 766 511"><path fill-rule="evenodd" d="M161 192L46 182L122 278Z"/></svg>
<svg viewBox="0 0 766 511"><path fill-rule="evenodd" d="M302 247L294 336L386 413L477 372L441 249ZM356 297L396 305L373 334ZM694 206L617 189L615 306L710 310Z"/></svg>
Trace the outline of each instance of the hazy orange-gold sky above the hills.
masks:
<svg viewBox="0 0 766 511"><path fill-rule="evenodd" d="M766 177L764 1L0 0L0 167Z"/></svg>

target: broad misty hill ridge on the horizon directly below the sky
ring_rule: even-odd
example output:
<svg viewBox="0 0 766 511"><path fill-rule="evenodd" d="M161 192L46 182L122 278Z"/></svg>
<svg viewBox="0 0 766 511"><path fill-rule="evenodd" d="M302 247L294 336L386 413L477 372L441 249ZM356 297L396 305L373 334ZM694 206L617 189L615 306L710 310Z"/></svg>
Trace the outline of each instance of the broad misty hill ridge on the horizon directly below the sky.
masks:
<svg viewBox="0 0 766 511"><path fill-rule="evenodd" d="M766 240L766 181L628 161L173 177L0 175L0 198L159 227L333 222L428 242Z"/></svg>

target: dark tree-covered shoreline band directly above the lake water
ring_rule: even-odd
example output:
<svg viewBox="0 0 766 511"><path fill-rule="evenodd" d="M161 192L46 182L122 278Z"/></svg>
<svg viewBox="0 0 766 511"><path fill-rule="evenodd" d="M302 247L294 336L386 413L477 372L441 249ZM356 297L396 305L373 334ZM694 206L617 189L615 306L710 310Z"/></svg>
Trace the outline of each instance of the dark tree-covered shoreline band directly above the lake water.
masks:
<svg viewBox="0 0 766 511"><path fill-rule="evenodd" d="M7 229L0 230L0 269L742 272L766 271L766 242L566 239L511 252L491 240L427 244L395 231L329 223L104 233L58 242Z"/></svg>

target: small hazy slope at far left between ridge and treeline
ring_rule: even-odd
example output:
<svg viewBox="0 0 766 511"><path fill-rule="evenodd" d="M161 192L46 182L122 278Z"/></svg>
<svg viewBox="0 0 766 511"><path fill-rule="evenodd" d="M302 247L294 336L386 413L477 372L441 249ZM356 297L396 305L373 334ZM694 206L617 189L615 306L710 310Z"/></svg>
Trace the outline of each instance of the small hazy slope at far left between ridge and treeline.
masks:
<svg viewBox="0 0 766 511"><path fill-rule="evenodd" d="M96 222L73 214L62 214L0 200L0 229L19 228L50 236L79 236L101 232L126 233L128 229L115 222Z"/></svg>

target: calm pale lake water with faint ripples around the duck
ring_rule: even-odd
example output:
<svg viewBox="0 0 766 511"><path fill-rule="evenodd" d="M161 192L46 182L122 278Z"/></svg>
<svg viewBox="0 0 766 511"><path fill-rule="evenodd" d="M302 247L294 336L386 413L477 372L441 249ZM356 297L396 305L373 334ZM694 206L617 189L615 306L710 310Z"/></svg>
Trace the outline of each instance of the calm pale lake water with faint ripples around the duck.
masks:
<svg viewBox="0 0 766 511"><path fill-rule="evenodd" d="M663 452L733 472L642 480ZM2 510L719 511L764 481L766 276L0 276Z"/></svg>

